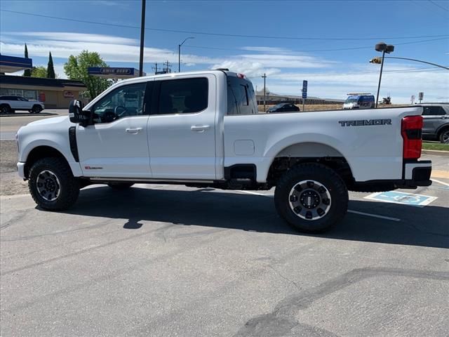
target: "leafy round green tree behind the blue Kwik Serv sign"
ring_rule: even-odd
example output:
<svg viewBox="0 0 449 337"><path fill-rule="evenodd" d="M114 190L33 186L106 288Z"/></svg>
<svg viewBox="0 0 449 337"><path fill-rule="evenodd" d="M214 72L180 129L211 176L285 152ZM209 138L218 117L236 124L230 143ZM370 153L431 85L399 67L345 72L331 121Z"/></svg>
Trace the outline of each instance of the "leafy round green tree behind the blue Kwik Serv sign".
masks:
<svg viewBox="0 0 449 337"><path fill-rule="evenodd" d="M100 79L99 77L89 75L88 67L108 67L108 65L102 60L100 54L82 51L77 56L69 56L69 60L67 60L64 65L64 72L69 79L83 81L87 87L90 98L95 98L102 93L102 91L105 91L111 82L107 79Z"/></svg>

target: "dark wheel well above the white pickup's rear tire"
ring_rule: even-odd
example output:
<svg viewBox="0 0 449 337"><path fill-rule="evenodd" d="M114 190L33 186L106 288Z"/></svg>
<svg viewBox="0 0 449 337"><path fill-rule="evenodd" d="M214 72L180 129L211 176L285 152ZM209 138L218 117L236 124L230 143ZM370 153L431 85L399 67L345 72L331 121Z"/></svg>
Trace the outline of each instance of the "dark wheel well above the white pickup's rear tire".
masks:
<svg viewBox="0 0 449 337"><path fill-rule="evenodd" d="M342 177L348 188L354 185L354 176L344 157L276 157L269 168L267 182L270 185L276 185L283 173L286 173L293 166L304 163L318 163L328 166Z"/></svg>

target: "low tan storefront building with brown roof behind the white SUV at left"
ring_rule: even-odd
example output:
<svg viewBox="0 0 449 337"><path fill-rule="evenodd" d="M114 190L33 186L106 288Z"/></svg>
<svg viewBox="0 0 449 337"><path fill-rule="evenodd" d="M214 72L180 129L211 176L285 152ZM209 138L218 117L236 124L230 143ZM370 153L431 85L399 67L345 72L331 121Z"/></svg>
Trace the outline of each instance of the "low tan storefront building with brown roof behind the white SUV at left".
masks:
<svg viewBox="0 0 449 337"><path fill-rule="evenodd" d="M39 100L46 108L68 108L70 101L82 99L80 93L86 90L83 82L71 79L0 75L0 95Z"/></svg>

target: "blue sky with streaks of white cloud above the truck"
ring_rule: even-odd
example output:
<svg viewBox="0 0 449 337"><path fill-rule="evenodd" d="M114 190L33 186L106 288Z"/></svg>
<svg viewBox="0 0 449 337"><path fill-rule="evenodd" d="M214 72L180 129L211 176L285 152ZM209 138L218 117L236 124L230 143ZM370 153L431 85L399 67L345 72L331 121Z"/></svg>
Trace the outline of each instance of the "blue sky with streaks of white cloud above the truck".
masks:
<svg viewBox="0 0 449 337"><path fill-rule="evenodd" d="M21 12L21 13L18 13ZM28 14L32 15L28 15ZM44 18L38 15L51 16ZM96 51L111 67L139 67L141 1L0 1L0 53L23 56L67 78L69 55ZM60 20L70 19L70 20ZM78 21L74 21L78 20ZM79 22L86 21L86 22ZM96 23L95 23L96 22ZM377 91L379 41L389 57L449 66L449 1L147 1L144 72L167 60L182 71L241 72L278 94L344 99ZM380 98L449 101L449 70L385 59Z"/></svg>

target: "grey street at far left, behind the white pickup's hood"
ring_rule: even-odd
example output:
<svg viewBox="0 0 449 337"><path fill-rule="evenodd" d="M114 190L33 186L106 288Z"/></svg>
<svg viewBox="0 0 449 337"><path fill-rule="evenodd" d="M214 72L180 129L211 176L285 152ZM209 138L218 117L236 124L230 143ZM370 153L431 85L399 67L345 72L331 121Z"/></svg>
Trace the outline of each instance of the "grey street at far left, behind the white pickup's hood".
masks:
<svg viewBox="0 0 449 337"><path fill-rule="evenodd" d="M67 115L67 109L46 109L40 114L30 114L29 112L16 112L15 114L0 116L0 140L15 139L15 133L20 126L24 126L32 121L50 117Z"/></svg>

